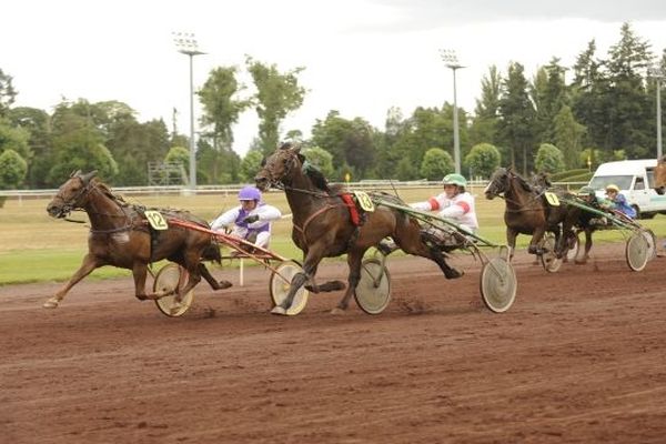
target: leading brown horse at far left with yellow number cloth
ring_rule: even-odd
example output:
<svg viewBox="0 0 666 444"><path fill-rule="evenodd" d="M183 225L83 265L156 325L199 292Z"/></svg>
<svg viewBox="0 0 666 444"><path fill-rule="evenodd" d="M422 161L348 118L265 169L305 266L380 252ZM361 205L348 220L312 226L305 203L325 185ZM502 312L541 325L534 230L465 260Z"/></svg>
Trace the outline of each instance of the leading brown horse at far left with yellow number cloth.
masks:
<svg viewBox="0 0 666 444"><path fill-rule="evenodd" d="M188 294L202 276L213 290L229 286L216 282L201 263L202 259L220 260L220 250L212 242L211 234L180 226L169 226L163 231L150 229L143 214L144 209L130 205L114 195L104 183L94 179L95 174L95 171L88 174L81 174L81 171L72 173L47 206L49 215L59 219L65 218L72 210L81 209L88 213L91 229L83 263L69 282L44 303L44 307L57 307L72 286L103 265L132 270L135 296L139 300L154 300L167 295L145 293L148 265L162 259L175 262L189 272L189 281L178 297ZM205 221L185 211L161 210L161 213L167 218L209 228Z"/></svg>

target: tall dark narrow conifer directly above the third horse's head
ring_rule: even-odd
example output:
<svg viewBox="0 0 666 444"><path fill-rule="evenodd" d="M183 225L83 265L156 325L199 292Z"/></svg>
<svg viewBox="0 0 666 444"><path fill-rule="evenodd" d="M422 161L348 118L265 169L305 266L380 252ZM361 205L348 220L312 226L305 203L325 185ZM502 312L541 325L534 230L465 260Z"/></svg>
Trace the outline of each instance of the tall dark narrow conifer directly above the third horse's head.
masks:
<svg viewBox="0 0 666 444"><path fill-rule="evenodd" d="M523 174L532 168L534 145L534 108L527 93L525 68L517 62L508 65L506 80L500 99L501 120L498 131L509 149L511 164L522 163Z"/></svg>

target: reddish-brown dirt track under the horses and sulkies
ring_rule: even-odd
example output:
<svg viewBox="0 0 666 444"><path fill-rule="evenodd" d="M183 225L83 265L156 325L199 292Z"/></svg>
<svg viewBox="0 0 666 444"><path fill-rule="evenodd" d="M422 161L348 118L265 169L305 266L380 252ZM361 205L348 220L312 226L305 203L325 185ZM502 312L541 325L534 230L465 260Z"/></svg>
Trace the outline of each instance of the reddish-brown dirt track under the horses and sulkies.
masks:
<svg viewBox="0 0 666 444"><path fill-rule="evenodd" d="M258 269L201 285L182 319L124 279L57 310L41 309L56 284L0 287L0 442L664 443L666 259L596 258L548 274L517 256L504 314L480 306L468 258L457 281L392 259L379 316L329 314L341 292L272 316Z"/></svg>

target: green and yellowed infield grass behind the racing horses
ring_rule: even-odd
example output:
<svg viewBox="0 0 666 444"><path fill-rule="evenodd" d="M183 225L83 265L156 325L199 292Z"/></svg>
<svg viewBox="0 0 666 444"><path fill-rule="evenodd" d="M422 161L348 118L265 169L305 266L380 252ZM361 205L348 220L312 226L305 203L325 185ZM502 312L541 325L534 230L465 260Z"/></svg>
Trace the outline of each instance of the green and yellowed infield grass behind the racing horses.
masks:
<svg viewBox="0 0 666 444"><path fill-rule="evenodd" d="M385 190L391 192L390 190ZM480 220L478 234L494 243L504 243L504 201L488 201L482 190L472 190L477 195L476 211ZM406 202L425 200L440 192L438 188L401 190ZM221 211L236 204L235 195L172 196L153 195L128 199L148 206L170 206L190 210L206 220L212 220ZM281 192L268 193L265 200L276 205L283 214L289 214L289 205ZM0 285L69 279L81 264L88 251L88 224L53 220L47 215L48 199L8 200L0 208ZM74 213L72 219L88 221L84 213ZM666 233L666 218L640 221L657 236ZM275 222L271 250L286 258L301 260L302 253L291 241L291 219ZM603 231L594 235L595 242L622 242L619 231ZM525 249L529 236L519 235L517 248ZM341 259L337 259L341 260ZM246 262L248 264L248 262ZM230 264L224 264L230 266ZM234 266L233 264L231 266ZM127 270L104 266L92 273L93 279L127 276Z"/></svg>

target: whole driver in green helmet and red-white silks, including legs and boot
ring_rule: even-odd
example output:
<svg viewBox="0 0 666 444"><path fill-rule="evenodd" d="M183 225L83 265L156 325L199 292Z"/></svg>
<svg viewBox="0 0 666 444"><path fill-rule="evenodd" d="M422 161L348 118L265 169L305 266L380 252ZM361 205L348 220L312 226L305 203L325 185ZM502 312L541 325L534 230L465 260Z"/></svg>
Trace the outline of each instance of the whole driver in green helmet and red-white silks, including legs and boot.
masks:
<svg viewBox="0 0 666 444"><path fill-rule="evenodd" d="M463 231L476 233L478 230L478 220L474 205L474 196L465 191L467 180L461 174L446 174L442 180L444 192L430 198L427 201L410 204L411 208L418 211L440 211L438 216L455 223ZM436 244L448 248L462 246L461 236L457 232L447 225L430 226L423 230L423 235ZM383 240L379 245L380 251L389 254L397 249L392 240Z"/></svg>

